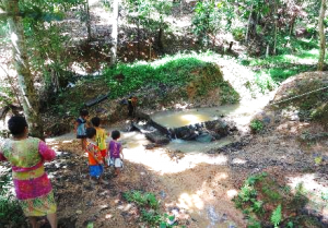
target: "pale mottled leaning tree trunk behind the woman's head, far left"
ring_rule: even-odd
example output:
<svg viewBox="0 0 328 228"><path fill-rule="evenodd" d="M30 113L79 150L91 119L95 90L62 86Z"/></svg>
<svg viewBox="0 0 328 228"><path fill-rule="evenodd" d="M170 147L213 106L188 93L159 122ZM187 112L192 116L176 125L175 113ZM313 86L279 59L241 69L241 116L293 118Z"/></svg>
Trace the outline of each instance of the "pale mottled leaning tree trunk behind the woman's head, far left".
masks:
<svg viewBox="0 0 328 228"><path fill-rule="evenodd" d="M5 3L7 12L12 13L12 15L8 17L8 23L10 26L15 69L19 75L19 86L22 95L21 100L30 125L30 132L33 136L44 139L38 95L35 91L33 75L30 70L23 19L19 15L19 0L7 0L2 2Z"/></svg>

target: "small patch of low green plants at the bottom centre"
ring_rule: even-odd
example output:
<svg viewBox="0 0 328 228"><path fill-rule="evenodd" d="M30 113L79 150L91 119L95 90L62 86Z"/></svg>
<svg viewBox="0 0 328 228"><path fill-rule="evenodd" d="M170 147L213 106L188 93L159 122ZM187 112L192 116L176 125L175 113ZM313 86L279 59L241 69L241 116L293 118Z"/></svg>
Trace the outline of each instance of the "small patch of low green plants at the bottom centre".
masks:
<svg viewBox="0 0 328 228"><path fill-rule="evenodd" d="M148 227L171 228L177 226L174 215L160 212L160 202L153 193L131 190L125 192L122 196L127 202L136 204L140 213L140 221L145 223Z"/></svg>

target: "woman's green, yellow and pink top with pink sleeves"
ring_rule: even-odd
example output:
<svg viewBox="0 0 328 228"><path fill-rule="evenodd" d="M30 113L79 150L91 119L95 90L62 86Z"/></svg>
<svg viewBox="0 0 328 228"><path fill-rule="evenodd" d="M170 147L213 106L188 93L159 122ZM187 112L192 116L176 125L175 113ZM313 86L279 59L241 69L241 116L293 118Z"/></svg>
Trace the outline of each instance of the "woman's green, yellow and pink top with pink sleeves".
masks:
<svg viewBox="0 0 328 228"><path fill-rule="evenodd" d="M12 165L12 177L19 200L39 197L52 190L45 172L44 161L55 157L55 151L36 137L4 140L0 145L0 160L8 160Z"/></svg>

